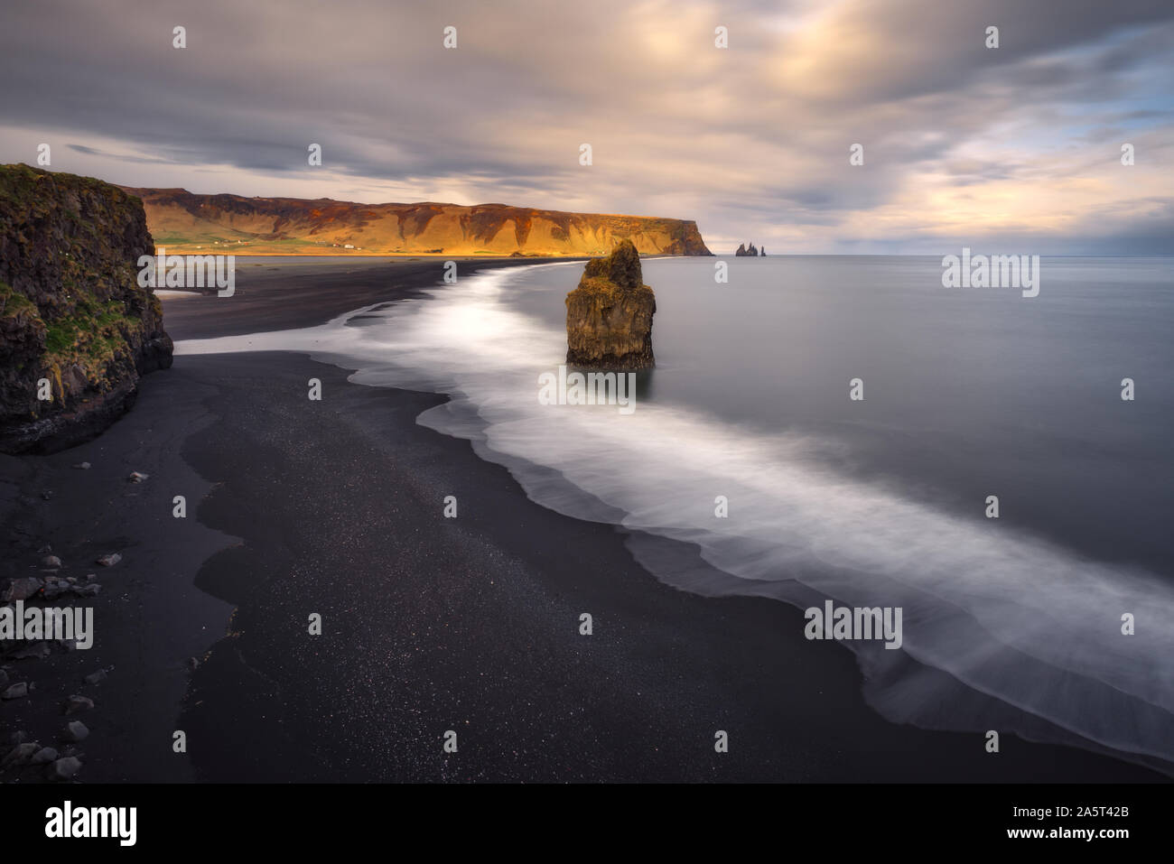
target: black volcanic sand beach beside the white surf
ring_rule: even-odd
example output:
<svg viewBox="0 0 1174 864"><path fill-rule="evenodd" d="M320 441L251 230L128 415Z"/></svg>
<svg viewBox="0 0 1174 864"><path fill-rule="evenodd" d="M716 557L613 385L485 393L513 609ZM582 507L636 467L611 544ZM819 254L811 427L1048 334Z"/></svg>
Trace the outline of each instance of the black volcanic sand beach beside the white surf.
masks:
<svg viewBox="0 0 1174 864"><path fill-rule="evenodd" d="M441 263L297 266L286 281L238 268L236 298L167 301L167 328L318 324L409 296ZM657 582L621 531L539 507L467 441L416 425L440 398L348 384L297 355L180 356L96 441L0 458L4 575L52 542L68 573L107 587L94 649L12 664L39 689L0 704L5 738L43 742L63 724L56 704L83 693L97 703L87 782L1161 779L1079 749L1004 735L992 756L977 733L885 722L852 655L803 639L799 610ZM69 468L82 460L94 467ZM150 478L128 485L130 471ZM448 494L457 519L443 518ZM77 566L113 549L109 573ZM579 635L582 612L594 635ZM112 663L107 682L80 684ZM171 754L175 729L187 756Z"/></svg>

